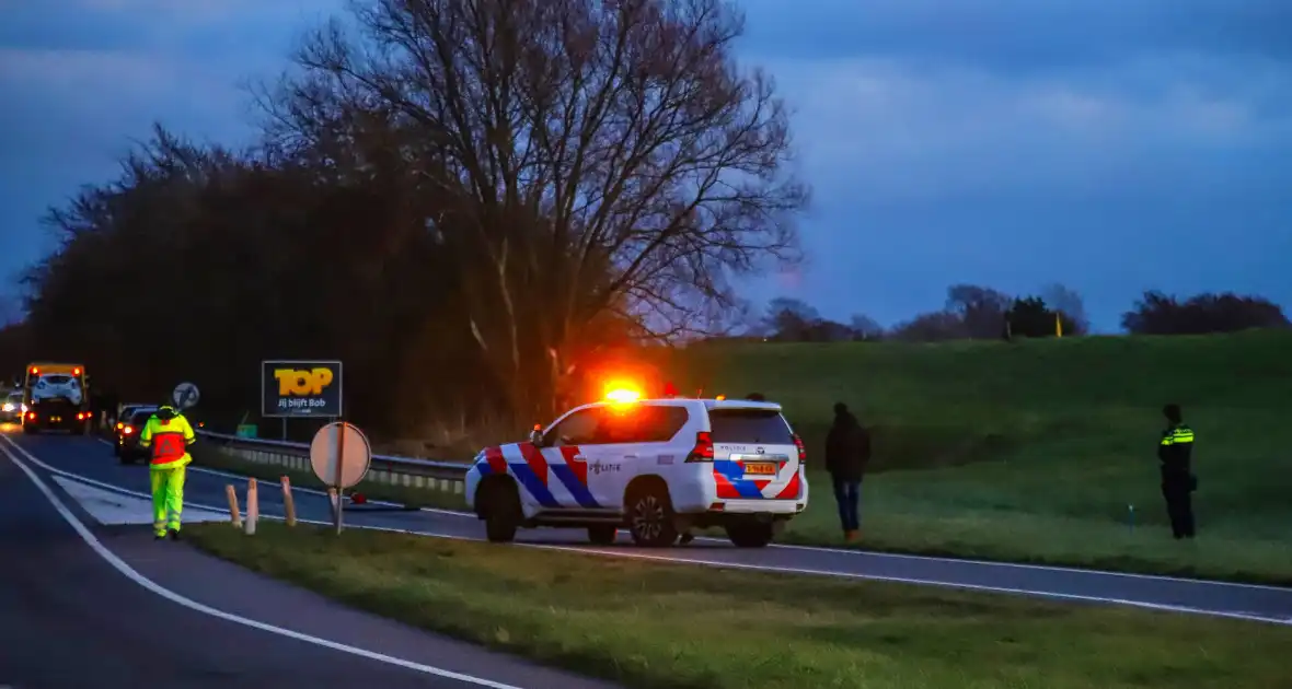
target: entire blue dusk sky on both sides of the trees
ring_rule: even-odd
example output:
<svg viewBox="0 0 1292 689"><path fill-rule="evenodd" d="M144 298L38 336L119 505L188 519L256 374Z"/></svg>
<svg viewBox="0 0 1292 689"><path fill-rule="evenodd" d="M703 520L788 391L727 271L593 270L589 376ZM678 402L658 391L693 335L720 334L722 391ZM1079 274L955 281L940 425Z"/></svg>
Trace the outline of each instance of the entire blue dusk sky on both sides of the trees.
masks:
<svg viewBox="0 0 1292 689"><path fill-rule="evenodd" d="M1145 289L1292 311L1288 0L747 0L740 58L796 110L809 266L749 297L889 325L952 283L1076 289L1098 330ZM0 274L154 120L252 134L336 0L0 0ZM5 286L4 290L13 292Z"/></svg>

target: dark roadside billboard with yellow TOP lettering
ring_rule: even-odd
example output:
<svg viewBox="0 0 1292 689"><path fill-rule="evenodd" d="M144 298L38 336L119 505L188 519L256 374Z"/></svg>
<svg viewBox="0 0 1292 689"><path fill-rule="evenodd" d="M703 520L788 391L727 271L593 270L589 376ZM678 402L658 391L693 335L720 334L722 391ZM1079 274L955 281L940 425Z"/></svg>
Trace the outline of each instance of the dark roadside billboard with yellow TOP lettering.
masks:
<svg viewBox="0 0 1292 689"><path fill-rule="evenodd" d="M340 361L262 361L264 417L340 417Z"/></svg>

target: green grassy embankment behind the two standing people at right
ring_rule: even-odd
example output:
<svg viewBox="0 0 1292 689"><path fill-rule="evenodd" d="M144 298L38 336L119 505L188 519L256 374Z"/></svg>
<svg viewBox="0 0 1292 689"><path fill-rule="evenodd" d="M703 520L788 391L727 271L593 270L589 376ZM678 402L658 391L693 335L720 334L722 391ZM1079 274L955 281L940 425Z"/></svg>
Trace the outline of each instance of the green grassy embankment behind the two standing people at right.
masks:
<svg viewBox="0 0 1292 689"><path fill-rule="evenodd" d="M714 394L786 405L809 462L831 406L875 431L860 547L1292 583L1292 333L689 352ZM1199 537L1171 538L1162 405L1198 432ZM815 450L815 453L813 453ZM837 543L828 477L784 539ZM1129 506L1134 506L1134 528Z"/></svg>

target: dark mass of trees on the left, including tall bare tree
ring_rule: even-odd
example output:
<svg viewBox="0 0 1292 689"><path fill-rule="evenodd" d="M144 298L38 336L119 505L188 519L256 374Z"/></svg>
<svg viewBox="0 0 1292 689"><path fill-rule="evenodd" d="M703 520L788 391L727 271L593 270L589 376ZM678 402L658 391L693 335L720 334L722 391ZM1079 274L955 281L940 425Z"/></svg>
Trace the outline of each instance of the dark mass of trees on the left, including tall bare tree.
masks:
<svg viewBox="0 0 1292 689"><path fill-rule="evenodd" d="M798 258L809 188L729 3L350 12L255 90L253 146L158 126L50 209L0 356L84 361L120 399L193 381L226 422L255 419L260 360L341 359L379 434L532 422L575 372L721 326L734 279Z"/></svg>

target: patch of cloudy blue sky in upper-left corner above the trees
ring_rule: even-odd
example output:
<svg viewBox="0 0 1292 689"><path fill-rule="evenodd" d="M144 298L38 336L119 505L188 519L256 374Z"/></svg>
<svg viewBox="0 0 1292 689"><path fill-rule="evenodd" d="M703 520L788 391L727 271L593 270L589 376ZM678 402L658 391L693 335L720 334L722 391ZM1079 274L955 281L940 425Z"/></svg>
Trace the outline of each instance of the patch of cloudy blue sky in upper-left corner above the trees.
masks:
<svg viewBox="0 0 1292 689"><path fill-rule="evenodd" d="M238 145L247 77L274 76L329 0L0 0L0 277L52 248L37 219L101 183L154 121Z"/></svg>

